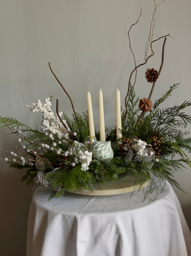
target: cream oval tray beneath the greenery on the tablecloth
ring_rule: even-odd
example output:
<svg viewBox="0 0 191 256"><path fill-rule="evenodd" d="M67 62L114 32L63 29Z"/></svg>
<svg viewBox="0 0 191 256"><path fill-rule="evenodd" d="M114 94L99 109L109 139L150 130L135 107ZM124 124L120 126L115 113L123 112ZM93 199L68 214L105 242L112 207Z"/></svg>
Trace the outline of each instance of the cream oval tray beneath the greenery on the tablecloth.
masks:
<svg viewBox="0 0 191 256"><path fill-rule="evenodd" d="M134 190L138 190L149 185L149 181L146 181L141 187L140 182L135 181L135 177L130 175L120 176L117 180L108 181L107 183L96 183L94 185L95 190L91 192L89 190L85 190L84 188L75 189L73 191L68 190L69 192L75 194L82 195L90 195L90 196L108 196L108 195L117 195L132 192Z"/></svg>

